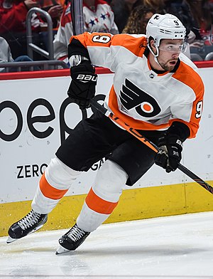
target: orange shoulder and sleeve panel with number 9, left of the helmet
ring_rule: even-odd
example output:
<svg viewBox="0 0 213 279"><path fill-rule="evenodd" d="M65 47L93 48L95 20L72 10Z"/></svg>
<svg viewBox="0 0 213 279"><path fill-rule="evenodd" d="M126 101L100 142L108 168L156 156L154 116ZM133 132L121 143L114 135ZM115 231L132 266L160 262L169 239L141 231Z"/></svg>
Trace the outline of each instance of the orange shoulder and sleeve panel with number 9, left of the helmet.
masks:
<svg viewBox="0 0 213 279"><path fill-rule="evenodd" d="M99 41L100 37L106 38L106 41ZM73 38L79 40L85 48L89 46L102 46L106 48L109 48L109 46L123 46L131 51L131 53L140 57L143 56L143 52L147 46L146 37L141 36L135 38L129 34L111 35L110 33L85 32L77 36L72 36L70 43Z"/></svg>

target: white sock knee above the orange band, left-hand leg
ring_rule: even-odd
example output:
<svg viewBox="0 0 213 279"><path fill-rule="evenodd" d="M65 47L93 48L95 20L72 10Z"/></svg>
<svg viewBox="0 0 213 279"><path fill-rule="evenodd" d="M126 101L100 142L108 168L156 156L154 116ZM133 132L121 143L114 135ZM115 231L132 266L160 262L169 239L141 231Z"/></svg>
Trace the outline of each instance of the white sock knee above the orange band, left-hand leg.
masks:
<svg viewBox="0 0 213 279"><path fill-rule="evenodd" d="M50 164L45 169L45 179L48 184L57 189L69 189L79 174L81 172L70 169L57 157L51 159Z"/></svg>

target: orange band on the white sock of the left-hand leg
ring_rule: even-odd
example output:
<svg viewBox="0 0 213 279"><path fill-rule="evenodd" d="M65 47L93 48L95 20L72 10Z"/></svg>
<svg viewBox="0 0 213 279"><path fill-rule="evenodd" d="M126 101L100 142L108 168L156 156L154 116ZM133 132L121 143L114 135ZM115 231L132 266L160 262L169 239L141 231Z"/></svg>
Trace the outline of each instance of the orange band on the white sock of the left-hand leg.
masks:
<svg viewBox="0 0 213 279"><path fill-rule="evenodd" d="M45 178L45 173L40 178L39 186L42 194L49 199L61 199L68 191L68 189L60 190L51 186Z"/></svg>

